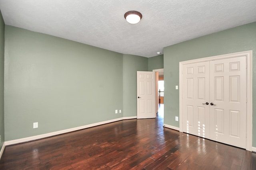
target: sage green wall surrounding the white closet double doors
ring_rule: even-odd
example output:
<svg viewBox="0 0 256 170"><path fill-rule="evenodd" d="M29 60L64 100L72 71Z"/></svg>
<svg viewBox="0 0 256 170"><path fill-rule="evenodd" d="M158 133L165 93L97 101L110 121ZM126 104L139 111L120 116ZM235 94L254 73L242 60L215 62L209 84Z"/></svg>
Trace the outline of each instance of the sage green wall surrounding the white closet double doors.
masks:
<svg viewBox="0 0 256 170"><path fill-rule="evenodd" d="M240 51L253 51L253 104L256 102L256 22L164 48L164 123L179 127L179 62ZM256 106L253 106L253 146L256 147Z"/></svg>

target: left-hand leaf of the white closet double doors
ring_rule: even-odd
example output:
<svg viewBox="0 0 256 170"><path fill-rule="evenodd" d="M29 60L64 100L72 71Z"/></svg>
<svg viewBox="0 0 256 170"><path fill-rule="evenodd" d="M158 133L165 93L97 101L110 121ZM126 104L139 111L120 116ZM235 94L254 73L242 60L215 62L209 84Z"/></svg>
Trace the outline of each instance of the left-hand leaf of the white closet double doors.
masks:
<svg viewBox="0 0 256 170"><path fill-rule="evenodd" d="M183 78L183 131L210 139L209 61L185 64Z"/></svg>

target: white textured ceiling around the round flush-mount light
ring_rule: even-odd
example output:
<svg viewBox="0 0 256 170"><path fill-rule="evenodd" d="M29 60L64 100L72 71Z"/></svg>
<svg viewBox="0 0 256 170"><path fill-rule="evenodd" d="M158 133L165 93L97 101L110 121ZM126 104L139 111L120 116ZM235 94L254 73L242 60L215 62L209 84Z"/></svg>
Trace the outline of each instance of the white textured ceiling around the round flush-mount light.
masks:
<svg viewBox="0 0 256 170"><path fill-rule="evenodd" d="M144 57L256 21L256 0L0 0L7 25ZM137 10L130 24L124 13Z"/></svg>

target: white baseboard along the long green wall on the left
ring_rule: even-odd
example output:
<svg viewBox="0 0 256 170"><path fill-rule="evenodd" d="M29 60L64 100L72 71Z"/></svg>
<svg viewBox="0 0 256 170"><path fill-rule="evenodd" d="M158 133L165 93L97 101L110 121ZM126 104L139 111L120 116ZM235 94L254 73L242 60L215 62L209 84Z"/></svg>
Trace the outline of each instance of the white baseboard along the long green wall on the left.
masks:
<svg viewBox="0 0 256 170"><path fill-rule="evenodd" d="M78 131L78 130L86 129L86 128L89 128L89 127L94 127L94 126L98 126L98 125L104 125L106 123L112 123L112 122L115 122L115 121L120 121L120 120L125 120L125 119L136 119L136 118L137 118L137 116L133 116L133 117L120 117L120 118L112 119L112 120L108 120L108 121L92 123L90 125L74 127L74 128L70 128L70 129L65 129L65 130L61 130L61 131L46 133L46 134L42 134L42 135L36 135L36 136L32 136L32 137L26 137L26 138L22 138L22 139L15 139L15 140L12 140L12 141L5 141L5 146L14 145L14 144L18 144L18 143L24 143L24 142L28 142L28 141L34 141L34 140L37 140L37 139L42 139L42 138L46 138L46 137L60 135L60 134L68 133L68 132L72 132L72 131Z"/></svg>

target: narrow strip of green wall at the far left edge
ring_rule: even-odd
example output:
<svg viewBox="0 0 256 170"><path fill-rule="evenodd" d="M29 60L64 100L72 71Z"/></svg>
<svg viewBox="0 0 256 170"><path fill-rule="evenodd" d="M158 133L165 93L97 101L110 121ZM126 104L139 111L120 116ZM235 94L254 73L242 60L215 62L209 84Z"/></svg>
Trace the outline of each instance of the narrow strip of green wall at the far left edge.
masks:
<svg viewBox="0 0 256 170"><path fill-rule="evenodd" d="M4 20L0 12L0 150L4 143Z"/></svg>

